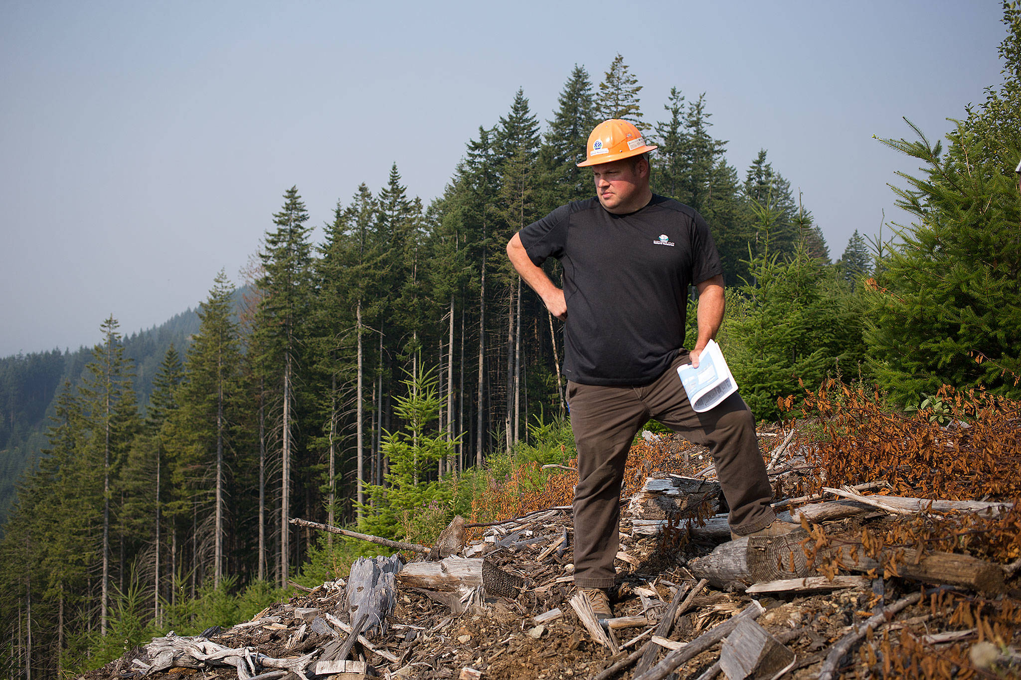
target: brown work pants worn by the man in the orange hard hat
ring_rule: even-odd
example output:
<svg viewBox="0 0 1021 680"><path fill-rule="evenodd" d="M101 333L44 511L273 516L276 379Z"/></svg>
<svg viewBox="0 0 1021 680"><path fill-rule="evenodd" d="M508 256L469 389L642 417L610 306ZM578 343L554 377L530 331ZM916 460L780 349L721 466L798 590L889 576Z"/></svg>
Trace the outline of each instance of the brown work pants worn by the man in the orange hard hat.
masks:
<svg viewBox="0 0 1021 680"><path fill-rule="evenodd" d="M688 353L682 350L671 367L647 385L568 382L571 428L578 444L574 563L579 586L614 585L624 464L634 435L649 418L709 447L734 533L758 531L776 518L751 412L735 393L716 408L695 413L677 376L677 367L688 362Z"/></svg>

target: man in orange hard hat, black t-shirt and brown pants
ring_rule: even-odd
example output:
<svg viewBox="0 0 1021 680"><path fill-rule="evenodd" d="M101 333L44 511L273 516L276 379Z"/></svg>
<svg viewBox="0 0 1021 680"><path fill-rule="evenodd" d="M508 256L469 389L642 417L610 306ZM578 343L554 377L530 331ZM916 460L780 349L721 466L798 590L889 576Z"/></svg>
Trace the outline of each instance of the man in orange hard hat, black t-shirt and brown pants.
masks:
<svg viewBox="0 0 1021 680"><path fill-rule="evenodd" d="M691 208L654 196L641 134L611 119L588 139L596 198L561 206L519 231L507 256L546 309L567 322L564 373L578 446L575 584L596 616L612 616L620 490L631 441L649 418L710 447L730 506L732 535L780 535L755 419L735 393L695 413L677 367L698 364L723 320L723 268L709 226ZM564 266L564 290L543 272ZM698 338L684 342L688 285L698 290Z"/></svg>

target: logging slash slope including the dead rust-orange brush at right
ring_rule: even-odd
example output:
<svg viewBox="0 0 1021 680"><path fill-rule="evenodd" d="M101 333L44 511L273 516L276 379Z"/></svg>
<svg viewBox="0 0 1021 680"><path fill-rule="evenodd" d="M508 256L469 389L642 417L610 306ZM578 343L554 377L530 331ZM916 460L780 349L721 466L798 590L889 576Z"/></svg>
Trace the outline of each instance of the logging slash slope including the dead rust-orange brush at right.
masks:
<svg viewBox="0 0 1021 680"><path fill-rule="evenodd" d="M612 619L573 586L574 473L558 469L538 491L494 488L428 555L359 560L86 677L1021 677L1021 408L941 398L949 418L824 389L824 418L761 431L774 505L803 527L782 539L731 540L707 452L647 433Z"/></svg>

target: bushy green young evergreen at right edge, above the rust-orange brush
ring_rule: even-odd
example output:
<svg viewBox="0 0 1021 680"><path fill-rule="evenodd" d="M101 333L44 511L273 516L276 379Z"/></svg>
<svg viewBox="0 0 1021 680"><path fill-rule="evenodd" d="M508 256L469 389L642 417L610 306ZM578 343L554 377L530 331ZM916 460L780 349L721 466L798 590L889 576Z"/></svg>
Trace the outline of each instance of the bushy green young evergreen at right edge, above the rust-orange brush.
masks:
<svg viewBox="0 0 1021 680"><path fill-rule="evenodd" d="M911 124L911 123L909 123ZM883 140L924 163L901 173L897 205L917 221L873 286L867 339L880 384L902 402L943 383L1021 396L1021 198L987 140L959 124L946 153L918 141Z"/></svg>

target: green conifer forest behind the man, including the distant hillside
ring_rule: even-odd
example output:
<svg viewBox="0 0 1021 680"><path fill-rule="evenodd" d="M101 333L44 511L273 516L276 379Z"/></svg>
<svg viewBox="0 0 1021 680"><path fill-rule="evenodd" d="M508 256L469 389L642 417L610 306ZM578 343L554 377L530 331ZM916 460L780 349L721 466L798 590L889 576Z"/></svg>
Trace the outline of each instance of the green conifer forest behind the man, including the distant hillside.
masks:
<svg viewBox="0 0 1021 680"><path fill-rule="evenodd" d="M282 187L249 267L222 271L194 315L133 337L97 319L91 352L0 360L5 677L242 620L377 553L293 518L428 542L522 452L567 464L563 322L505 246L592 196L576 163L605 118L659 145L653 192L709 223L727 283L718 339L757 418L831 378L891 409L943 384L1021 398L1021 12L1005 23L1005 83L945 140L907 122L905 139L870 141L921 166L896 192L910 223L872 234L868 216L827 244L797 168L728 156L704 95L675 88L643 109L618 55L576 65L553 111L508 91L434 200L395 164L338 197L314 242L300 188Z"/></svg>

